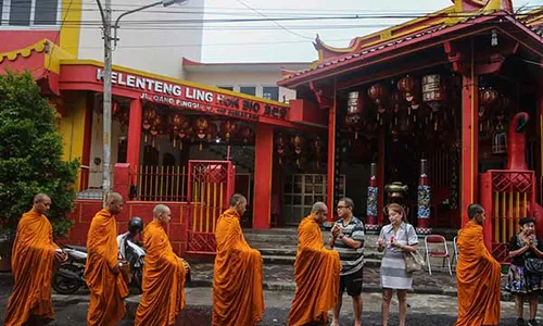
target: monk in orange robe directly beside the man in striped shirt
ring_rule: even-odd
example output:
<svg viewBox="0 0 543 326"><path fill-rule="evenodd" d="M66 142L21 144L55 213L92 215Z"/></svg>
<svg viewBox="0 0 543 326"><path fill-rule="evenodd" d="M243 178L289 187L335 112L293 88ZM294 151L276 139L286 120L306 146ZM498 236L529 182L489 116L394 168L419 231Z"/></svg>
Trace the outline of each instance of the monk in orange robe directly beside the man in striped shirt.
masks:
<svg viewBox="0 0 543 326"><path fill-rule="evenodd" d="M296 292L289 314L289 326L328 324L328 312L339 294L341 263L339 253L325 248L320 224L328 208L313 205L311 215L298 227L298 253L294 263Z"/></svg>

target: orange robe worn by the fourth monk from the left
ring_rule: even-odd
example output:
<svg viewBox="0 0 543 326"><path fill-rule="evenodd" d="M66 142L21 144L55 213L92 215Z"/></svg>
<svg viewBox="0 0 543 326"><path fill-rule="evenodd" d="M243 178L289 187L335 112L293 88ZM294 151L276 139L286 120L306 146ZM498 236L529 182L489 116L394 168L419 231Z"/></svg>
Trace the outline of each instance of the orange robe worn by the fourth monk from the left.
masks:
<svg viewBox="0 0 543 326"><path fill-rule="evenodd" d="M252 326L262 319L262 256L245 241L239 214L229 209L218 217L213 279L214 326Z"/></svg>

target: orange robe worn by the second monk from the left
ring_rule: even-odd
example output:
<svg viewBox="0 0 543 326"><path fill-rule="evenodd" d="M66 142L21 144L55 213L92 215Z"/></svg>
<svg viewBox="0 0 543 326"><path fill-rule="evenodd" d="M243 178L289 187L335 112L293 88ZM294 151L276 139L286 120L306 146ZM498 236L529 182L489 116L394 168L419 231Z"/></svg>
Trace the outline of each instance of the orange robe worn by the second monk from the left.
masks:
<svg viewBox="0 0 543 326"><path fill-rule="evenodd" d="M123 276L111 271L118 264L117 224L106 210L98 212L87 236L85 280L90 290L88 326L117 325L125 315L123 299L128 287Z"/></svg>

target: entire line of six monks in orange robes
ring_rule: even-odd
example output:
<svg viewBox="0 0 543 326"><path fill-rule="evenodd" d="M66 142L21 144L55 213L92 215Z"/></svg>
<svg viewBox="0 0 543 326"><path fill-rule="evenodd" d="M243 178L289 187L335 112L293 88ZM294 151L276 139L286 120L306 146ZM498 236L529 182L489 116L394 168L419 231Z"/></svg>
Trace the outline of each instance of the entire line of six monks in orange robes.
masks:
<svg viewBox="0 0 543 326"><path fill-rule="evenodd" d="M327 209L324 203L318 204ZM50 205L47 195L37 195L33 209L18 223L12 254L14 289L5 312L5 326L43 325L54 319L53 263L62 263L66 255L53 242L52 227L45 215ZM213 326L252 326L261 322L264 313L262 256L247 243L240 226L245 205L243 196L233 195L230 208L217 222ZM484 248L484 210L475 205L468 210L471 220L458 238L456 326L497 325L500 321L500 264ZM118 260L115 222L122 209L121 195L111 193L105 208L90 225L85 269L90 290L89 326L117 325L126 312L124 299L128 288ZM299 226L296 290L288 318L288 325L292 326L327 324L329 311L338 301L339 253L324 246L320 225L326 214L313 211ZM169 209L159 204L153 210L153 221L143 230L147 255L137 326L174 325L185 306L185 279L190 267L172 250L165 231L169 218Z"/></svg>

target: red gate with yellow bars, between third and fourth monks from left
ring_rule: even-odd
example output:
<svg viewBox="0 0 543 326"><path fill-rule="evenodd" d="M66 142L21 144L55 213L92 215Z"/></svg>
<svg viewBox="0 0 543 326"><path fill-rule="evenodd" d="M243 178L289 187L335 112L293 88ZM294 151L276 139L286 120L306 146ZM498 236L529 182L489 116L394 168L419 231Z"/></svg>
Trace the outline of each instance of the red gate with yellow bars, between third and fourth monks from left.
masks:
<svg viewBox="0 0 543 326"><path fill-rule="evenodd" d="M233 195L235 174L230 161L189 161L187 253L215 253L215 227Z"/></svg>

